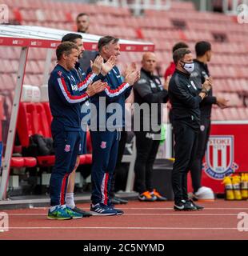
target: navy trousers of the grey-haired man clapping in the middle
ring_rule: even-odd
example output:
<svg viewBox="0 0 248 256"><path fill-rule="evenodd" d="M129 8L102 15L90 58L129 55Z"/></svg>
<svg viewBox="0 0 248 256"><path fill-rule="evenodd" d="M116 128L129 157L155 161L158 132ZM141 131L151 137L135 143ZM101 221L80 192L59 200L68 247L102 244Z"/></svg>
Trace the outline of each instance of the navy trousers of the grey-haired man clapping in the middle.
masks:
<svg viewBox="0 0 248 256"><path fill-rule="evenodd" d="M94 205L110 204L110 185L118 157L120 136L121 133L118 130L90 131L92 142L91 201Z"/></svg>

